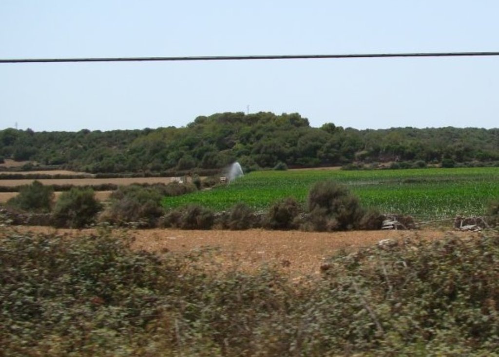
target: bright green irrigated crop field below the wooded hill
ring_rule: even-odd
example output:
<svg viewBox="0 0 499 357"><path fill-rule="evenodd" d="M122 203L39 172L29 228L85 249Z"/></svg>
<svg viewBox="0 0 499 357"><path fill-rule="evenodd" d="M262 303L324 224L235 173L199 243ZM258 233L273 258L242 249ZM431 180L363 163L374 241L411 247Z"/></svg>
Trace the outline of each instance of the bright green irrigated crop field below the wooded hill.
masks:
<svg viewBox="0 0 499 357"><path fill-rule="evenodd" d="M324 179L347 185L365 206L421 219L483 215L487 203L499 198L499 168L297 170L252 172L229 185L165 197L163 204L175 208L196 203L220 211L245 202L255 209L265 209L289 196L304 204L311 185Z"/></svg>

